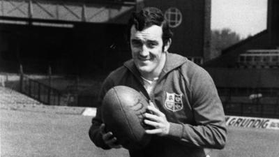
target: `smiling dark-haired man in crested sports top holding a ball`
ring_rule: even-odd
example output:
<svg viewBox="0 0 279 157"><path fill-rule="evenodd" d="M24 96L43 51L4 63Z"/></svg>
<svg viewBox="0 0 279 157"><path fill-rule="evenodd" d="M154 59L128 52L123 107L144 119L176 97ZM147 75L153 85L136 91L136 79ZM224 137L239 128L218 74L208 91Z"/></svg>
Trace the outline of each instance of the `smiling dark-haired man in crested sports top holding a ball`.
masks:
<svg viewBox="0 0 279 157"><path fill-rule="evenodd" d="M144 8L128 23L130 61L114 70L103 82L101 102L114 86L125 85L150 100L144 123L152 135L142 150L130 156L208 156L210 149L223 149L227 130L216 87L209 74L178 54L167 52L172 43L163 13ZM105 131L98 107L89 136L103 149L120 148L113 133Z"/></svg>

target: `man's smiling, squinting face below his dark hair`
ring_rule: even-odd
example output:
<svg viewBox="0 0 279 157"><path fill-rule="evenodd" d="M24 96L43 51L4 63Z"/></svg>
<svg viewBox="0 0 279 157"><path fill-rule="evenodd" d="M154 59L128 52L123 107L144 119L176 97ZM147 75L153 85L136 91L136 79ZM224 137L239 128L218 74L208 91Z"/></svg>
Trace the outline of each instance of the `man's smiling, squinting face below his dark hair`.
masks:
<svg viewBox="0 0 279 157"><path fill-rule="evenodd" d="M156 75L165 64L163 52L162 27L152 25L142 31L131 28L130 48L137 69L142 75ZM167 50L165 47L164 50Z"/></svg>

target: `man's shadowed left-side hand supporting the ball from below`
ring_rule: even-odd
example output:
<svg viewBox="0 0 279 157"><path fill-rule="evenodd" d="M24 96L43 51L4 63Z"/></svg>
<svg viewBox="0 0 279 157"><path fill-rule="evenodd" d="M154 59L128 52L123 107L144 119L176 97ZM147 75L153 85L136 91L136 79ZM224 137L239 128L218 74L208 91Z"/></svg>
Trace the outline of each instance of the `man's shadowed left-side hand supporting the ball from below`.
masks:
<svg viewBox="0 0 279 157"><path fill-rule="evenodd" d="M100 133L102 134L102 138L109 147L119 149L122 146L117 144L117 139L112 135L112 132L105 132L105 124L100 125Z"/></svg>

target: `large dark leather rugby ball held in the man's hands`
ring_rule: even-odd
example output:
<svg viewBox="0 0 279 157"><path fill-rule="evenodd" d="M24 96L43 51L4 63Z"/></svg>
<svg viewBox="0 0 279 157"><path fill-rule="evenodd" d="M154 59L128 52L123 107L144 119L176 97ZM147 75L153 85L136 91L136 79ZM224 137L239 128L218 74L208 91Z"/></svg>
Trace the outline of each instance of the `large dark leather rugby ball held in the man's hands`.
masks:
<svg viewBox="0 0 279 157"><path fill-rule="evenodd" d="M119 144L129 150L142 149L151 140L145 133L144 113L149 105L135 89L116 86L107 91L102 103L102 119L106 131L111 131Z"/></svg>

